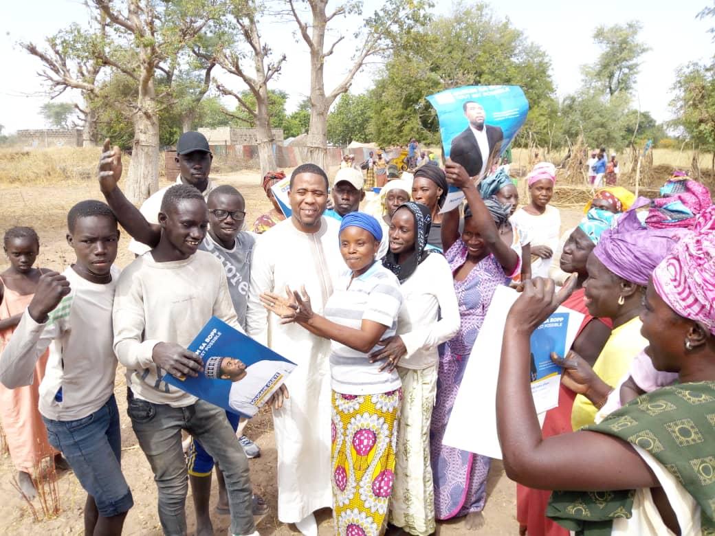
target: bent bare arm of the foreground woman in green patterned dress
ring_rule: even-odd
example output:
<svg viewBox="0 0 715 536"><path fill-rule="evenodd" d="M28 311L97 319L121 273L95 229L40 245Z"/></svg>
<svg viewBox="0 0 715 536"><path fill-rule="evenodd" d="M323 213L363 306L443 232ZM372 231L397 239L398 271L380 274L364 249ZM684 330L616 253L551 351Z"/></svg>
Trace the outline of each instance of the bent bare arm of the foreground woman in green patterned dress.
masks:
<svg viewBox="0 0 715 536"><path fill-rule="evenodd" d="M568 297L575 283L572 277L556 294L551 279L528 281L507 317L496 394L497 430L506 474L542 490L657 487L659 481L646 462L631 445L616 437L597 432L573 432L546 440L541 437L531 396L529 338Z"/></svg>

